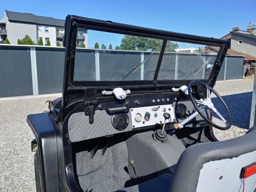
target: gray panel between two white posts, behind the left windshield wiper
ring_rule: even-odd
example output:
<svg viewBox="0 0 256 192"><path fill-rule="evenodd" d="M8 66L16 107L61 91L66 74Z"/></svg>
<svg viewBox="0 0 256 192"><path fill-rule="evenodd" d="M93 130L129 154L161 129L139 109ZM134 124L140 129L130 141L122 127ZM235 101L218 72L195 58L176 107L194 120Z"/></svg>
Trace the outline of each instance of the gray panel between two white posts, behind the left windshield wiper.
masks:
<svg viewBox="0 0 256 192"><path fill-rule="evenodd" d="M100 81L122 80L134 66L141 63L140 52L99 51ZM115 70L115 71L114 71ZM140 70L124 80L140 80Z"/></svg>

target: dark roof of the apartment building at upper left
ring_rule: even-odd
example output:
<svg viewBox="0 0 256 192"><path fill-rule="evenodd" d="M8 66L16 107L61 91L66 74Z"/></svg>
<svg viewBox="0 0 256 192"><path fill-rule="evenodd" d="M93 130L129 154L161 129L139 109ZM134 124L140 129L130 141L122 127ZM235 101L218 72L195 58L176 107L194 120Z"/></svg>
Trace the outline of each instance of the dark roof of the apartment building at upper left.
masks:
<svg viewBox="0 0 256 192"><path fill-rule="evenodd" d="M20 13L20 12L12 12L7 11L6 16L8 20L12 21L21 21L21 22L29 22L29 23L37 23L43 25L54 25L54 26L62 26L64 27L65 20L63 19L54 19L52 17L43 17L37 16L32 13Z"/></svg>

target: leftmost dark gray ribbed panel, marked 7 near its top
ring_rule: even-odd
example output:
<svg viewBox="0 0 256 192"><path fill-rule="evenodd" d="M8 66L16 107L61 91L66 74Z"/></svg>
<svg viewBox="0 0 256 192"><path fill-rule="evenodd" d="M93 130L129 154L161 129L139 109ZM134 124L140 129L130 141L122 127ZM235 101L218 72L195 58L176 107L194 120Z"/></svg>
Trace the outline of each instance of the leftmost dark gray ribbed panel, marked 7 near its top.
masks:
<svg viewBox="0 0 256 192"><path fill-rule="evenodd" d="M33 95L30 48L0 47L0 97Z"/></svg>

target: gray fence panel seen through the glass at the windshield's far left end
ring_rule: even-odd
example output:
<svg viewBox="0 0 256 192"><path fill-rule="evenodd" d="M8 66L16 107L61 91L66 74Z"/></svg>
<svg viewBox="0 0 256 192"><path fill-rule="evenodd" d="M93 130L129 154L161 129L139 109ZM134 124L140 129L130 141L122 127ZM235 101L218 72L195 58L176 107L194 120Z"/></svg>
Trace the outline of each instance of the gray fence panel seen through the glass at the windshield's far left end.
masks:
<svg viewBox="0 0 256 192"><path fill-rule="evenodd" d="M94 50L76 50L75 81L95 81L95 51Z"/></svg>

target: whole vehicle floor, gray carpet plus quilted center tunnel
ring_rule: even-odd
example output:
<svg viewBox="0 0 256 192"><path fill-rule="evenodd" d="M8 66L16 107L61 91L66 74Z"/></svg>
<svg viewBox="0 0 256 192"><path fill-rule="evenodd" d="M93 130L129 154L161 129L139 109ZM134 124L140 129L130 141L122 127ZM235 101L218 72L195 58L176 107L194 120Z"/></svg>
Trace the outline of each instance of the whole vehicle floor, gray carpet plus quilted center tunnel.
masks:
<svg viewBox="0 0 256 192"><path fill-rule="evenodd" d="M154 131L141 131L132 135L114 135L76 143L74 145L76 174L80 187L86 192L112 192L136 185L166 172L173 173L179 157L189 145L188 143L210 141L205 137L203 128L196 130L196 133L195 130L193 133L190 131L186 133L185 129L184 131L177 132L179 133L177 135L168 135L167 142L158 144L151 138ZM101 149L109 139L108 148L102 156ZM97 151L91 158L90 151L97 144ZM131 158L135 161L135 166L137 165L135 167L136 172L138 171L137 175L134 174L129 164ZM140 180L132 179L128 170L133 178L140 176Z"/></svg>

